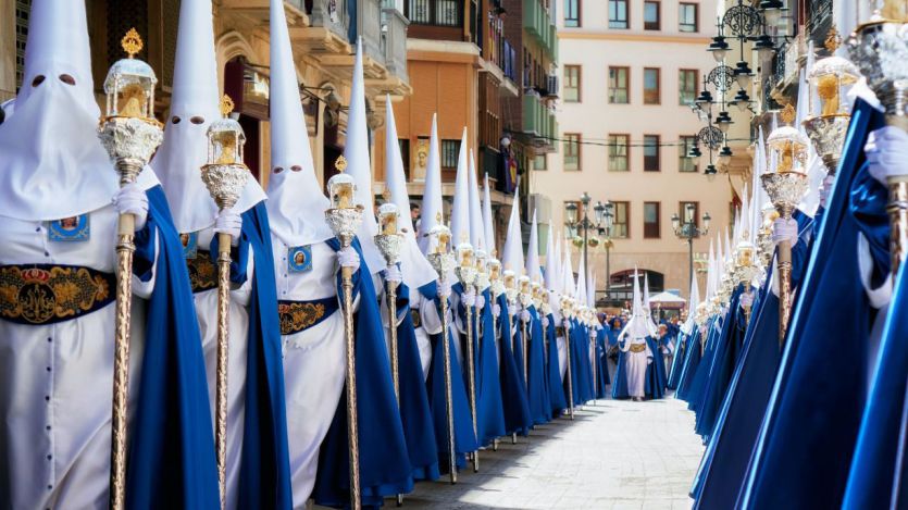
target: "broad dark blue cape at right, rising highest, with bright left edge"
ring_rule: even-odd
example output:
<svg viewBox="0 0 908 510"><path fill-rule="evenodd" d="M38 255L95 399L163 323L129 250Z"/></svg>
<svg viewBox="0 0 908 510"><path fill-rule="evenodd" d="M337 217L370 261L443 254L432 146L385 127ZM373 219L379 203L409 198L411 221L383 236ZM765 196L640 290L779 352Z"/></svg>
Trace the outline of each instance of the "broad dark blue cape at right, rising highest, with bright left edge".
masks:
<svg viewBox="0 0 908 510"><path fill-rule="evenodd" d="M866 402L873 315L854 249L862 228L849 203L860 200L853 189L861 183L867 137L883 123L872 107L856 103L820 235L796 297L744 507L842 505ZM885 272L887 268L881 273ZM848 320L832 320L843 314Z"/></svg>

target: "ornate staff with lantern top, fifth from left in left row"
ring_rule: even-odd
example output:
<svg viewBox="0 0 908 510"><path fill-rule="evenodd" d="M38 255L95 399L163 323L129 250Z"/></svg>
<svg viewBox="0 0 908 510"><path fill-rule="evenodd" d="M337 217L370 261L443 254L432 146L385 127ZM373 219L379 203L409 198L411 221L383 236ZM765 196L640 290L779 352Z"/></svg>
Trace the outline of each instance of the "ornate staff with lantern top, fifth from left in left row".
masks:
<svg viewBox="0 0 908 510"><path fill-rule="evenodd" d="M438 213L438 224L432 228L428 235L435 238L435 251L426 258L435 272L438 273L438 286L446 285L448 273L453 271L456 262L453 256L448 252L448 244L451 240L451 231L441 224L441 214ZM455 452L453 433L453 397L451 396L451 352L448 339L448 297L441 299L441 358L445 365L445 411L448 418L448 468L450 469L451 484L457 483L457 453Z"/></svg>

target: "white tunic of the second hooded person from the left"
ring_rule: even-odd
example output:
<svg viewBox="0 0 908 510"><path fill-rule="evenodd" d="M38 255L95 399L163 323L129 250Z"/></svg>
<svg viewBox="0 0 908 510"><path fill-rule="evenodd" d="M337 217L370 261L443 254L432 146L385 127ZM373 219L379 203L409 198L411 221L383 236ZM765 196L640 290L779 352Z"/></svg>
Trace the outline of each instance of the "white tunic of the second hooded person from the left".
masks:
<svg viewBox="0 0 908 510"><path fill-rule="evenodd" d="M214 228L198 233L199 249L208 251ZM216 253L215 253L216 257ZM254 261L249 250L246 282L231 291L229 344L227 346L227 508L237 506L239 471L242 460L242 431L246 419L246 354L249 336L249 298L252 295ZM192 295L196 318L202 335L204 372L208 377L208 397L211 403L211 423L214 425L217 385L217 289ZM216 425L215 425L216 426ZM215 431L216 434L216 431Z"/></svg>

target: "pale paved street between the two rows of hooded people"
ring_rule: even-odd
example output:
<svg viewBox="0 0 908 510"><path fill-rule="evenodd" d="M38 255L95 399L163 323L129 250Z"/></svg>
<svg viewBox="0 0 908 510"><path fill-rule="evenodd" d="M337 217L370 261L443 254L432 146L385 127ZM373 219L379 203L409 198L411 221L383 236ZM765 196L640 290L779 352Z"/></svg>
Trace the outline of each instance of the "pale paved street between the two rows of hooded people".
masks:
<svg viewBox="0 0 908 510"><path fill-rule="evenodd" d="M694 415L672 398L600 400L481 453L457 485L423 483L405 508L687 509L702 453Z"/></svg>

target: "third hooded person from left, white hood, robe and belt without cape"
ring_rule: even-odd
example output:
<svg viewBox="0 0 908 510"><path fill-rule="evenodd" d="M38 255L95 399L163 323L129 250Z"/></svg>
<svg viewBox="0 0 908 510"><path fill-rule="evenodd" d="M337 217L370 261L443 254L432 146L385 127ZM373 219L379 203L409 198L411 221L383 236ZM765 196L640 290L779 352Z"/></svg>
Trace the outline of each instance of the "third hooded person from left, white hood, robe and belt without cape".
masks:
<svg viewBox="0 0 908 510"><path fill-rule="evenodd" d="M359 257L326 244L334 238L325 222L329 202L315 178L279 0L271 1L271 164L265 204L284 344L294 508L304 508L346 374L337 274L339 266L359 268Z"/></svg>

